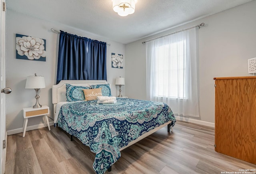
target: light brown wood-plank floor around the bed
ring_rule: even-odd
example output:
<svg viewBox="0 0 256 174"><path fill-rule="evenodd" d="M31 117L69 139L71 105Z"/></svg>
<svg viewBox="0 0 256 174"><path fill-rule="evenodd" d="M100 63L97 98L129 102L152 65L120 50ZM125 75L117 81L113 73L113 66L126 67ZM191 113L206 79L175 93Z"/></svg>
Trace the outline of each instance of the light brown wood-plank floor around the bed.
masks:
<svg viewBox="0 0 256 174"><path fill-rule="evenodd" d="M221 174L256 165L214 151L214 129L178 121L121 151L106 174ZM5 174L94 174L95 154L59 128L9 135Z"/></svg>

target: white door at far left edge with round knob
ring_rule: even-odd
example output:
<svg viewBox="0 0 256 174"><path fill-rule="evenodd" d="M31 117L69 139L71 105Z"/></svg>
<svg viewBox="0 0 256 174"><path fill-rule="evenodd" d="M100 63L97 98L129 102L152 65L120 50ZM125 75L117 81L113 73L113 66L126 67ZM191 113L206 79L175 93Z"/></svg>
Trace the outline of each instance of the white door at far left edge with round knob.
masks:
<svg viewBox="0 0 256 174"><path fill-rule="evenodd" d="M5 169L5 158L6 158L6 92L5 87L5 11L4 2L1 0L0 3L0 87L1 87L1 97L0 97L0 174L4 174ZM2 90L3 89L3 90ZM4 144L5 141L5 144Z"/></svg>

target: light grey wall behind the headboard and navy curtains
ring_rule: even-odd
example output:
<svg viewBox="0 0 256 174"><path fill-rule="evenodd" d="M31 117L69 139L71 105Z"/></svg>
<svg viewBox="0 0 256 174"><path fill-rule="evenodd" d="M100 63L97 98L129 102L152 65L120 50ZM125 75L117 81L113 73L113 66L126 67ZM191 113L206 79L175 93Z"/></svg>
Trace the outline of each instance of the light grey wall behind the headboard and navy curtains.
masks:
<svg viewBox="0 0 256 174"><path fill-rule="evenodd" d="M111 46L107 46L107 80L111 84L112 95L117 96L119 94L119 87L115 85L115 79L119 76L125 77L125 45L88 33L86 29L84 31L78 30L63 24L26 16L12 10L7 10L6 27L6 86L12 88L12 93L6 95L7 130L21 130L24 120L22 108L32 107L36 102L34 89L25 89L26 77L34 75L34 73L45 77L46 88L40 89L39 103L50 107L51 114L49 117L53 119L52 85L56 84L59 36L57 33L51 32L51 28L111 43ZM46 39L46 62L16 59L16 34ZM118 53L124 56L123 69L111 67L111 53ZM125 95L125 86L122 87L122 94ZM41 123L43 123L42 117L30 118L28 126Z"/></svg>

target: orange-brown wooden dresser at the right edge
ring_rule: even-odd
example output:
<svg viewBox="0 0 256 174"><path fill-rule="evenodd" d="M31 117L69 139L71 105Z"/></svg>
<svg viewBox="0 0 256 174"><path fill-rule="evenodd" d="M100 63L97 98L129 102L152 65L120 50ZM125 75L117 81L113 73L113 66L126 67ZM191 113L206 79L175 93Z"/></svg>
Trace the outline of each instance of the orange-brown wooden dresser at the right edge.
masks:
<svg viewBox="0 0 256 174"><path fill-rule="evenodd" d="M256 77L215 77L215 150L256 164Z"/></svg>

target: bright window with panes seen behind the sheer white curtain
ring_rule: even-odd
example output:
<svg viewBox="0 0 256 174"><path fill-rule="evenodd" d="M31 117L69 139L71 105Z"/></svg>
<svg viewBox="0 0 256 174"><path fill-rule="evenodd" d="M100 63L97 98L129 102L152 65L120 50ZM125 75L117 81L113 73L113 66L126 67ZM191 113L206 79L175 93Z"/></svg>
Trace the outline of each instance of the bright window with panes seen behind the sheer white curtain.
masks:
<svg viewBox="0 0 256 174"><path fill-rule="evenodd" d="M186 41L155 47L156 97L186 98Z"/></svg>

